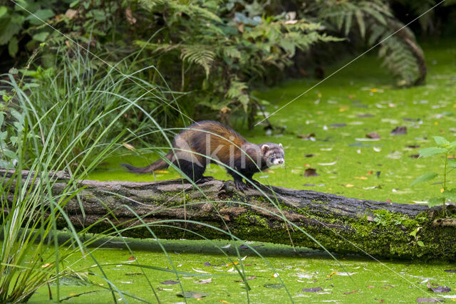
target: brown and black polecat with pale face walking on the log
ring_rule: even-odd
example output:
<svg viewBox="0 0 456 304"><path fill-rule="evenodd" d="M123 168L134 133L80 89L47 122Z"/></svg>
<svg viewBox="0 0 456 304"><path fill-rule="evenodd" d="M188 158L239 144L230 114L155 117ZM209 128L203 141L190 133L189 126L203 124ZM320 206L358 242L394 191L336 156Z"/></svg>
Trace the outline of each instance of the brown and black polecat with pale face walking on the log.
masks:
<svg viewBox="0 0 456 304"><path fill-rule="evenodd" d="M172 149L165 155L172 164L179 167L193 182L208 182L213 177L204 177L207 164L221 164L232 175L236 188L243 191L258 184L252 179L257 172L274 165L284 164L284 147L281 144L247 142L232 128L220 122L205 120L186 127L172 142ZM131 172L147 173L169 166L164 159L146 167L122 164ZM242 182L242 174L246 184Z"/></svg>

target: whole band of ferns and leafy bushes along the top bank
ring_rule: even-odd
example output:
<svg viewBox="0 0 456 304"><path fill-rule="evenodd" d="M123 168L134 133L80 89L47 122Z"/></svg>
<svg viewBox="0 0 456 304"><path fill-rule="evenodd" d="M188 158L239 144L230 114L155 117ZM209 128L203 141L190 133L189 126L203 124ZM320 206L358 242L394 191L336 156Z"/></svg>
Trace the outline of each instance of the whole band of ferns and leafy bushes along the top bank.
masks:
<svg viewBox="0 0 456 304"><path fill-rule="evenodd" d="M54 73L62 66L56 51L68 52L70 59L82 51L73 42L98 56L98 61L85 63L91 68L115 65L139 51L138 56L125 59L131 60L125 63L130 71L139 71L138 81L166 83L170 91L184 93L178 95L178 105L187 115L202 119L214 117L215 112L219 120L229 122L234 113L249 113L252 120L264 101L256 100L250 91L259 83L280 79L296 50L307 52L312 46L347 37L373 46L398 24L379 0L296 1L292 9L277 1L22 0L0 6L4 30L0 50L3 45L3 51L7 47L16 56L45 41L49 47L38 64L55 68ZM382 43L380 55L399 85L420 83L424 80L423 62L418 62L416 53L420 48L413 33L401 33ZM173 119L180 117L179 111L169 110Z"/></svg>

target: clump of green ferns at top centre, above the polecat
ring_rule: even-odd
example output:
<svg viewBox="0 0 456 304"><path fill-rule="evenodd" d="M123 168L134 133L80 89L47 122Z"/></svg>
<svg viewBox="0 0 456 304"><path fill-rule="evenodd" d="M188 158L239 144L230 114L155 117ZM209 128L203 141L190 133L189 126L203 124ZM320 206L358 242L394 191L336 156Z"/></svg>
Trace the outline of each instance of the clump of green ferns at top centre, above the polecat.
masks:
<svg viewBox="0 0 456 304"><path fill-rule="evenodd" d="M165 24L155 28L160 32L154 38L135 43L152 51L151 60L160 63L162 73L180 74L175 78L180 83L169 83L190 92L185 100L197 103L192 108L207 107L221 116L238 109L247 112L255 81L272 70L284 70L296 49L338 41L321 33L318 23L266 14L264 6L253 8L244 1L200 0L186 6L181 1L144 0L141 4Z"/></svg>

